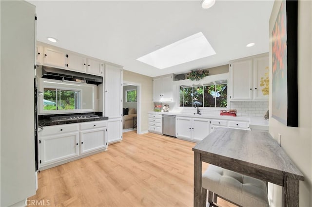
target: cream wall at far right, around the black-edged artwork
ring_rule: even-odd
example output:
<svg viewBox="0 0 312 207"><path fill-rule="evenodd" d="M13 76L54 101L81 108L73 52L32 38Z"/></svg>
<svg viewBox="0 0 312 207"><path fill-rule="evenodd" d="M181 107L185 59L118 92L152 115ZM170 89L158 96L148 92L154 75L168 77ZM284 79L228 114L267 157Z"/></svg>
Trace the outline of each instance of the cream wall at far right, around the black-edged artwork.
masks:
<svg viewBox="0 0 312 207"><path fill-rule="evenodd" d="M281 1L275 1L270 18L270 39ZM299 183L299 206L312 206L312 1L299 1L298 10L298 127L287 127L270 118L270 134L281 134L281 146L305 176ZM272 42L270 42L270 80L272 80ZM270 116L272 83L270 83ZM270 187L270 186L269 186ZM271 206L281 206L281 187L271 186Z"/></svg>

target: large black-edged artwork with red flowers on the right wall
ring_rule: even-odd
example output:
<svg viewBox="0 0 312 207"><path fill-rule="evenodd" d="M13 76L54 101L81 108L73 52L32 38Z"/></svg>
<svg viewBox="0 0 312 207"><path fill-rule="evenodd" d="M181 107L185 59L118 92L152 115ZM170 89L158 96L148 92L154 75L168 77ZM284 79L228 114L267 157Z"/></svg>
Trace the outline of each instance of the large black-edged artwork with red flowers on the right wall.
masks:
<svg viewBox="0 0 312 207"><path fill-rule="evenodd" d="M283 0L272 31L272 117L298 126L298 1Z"/></svg>

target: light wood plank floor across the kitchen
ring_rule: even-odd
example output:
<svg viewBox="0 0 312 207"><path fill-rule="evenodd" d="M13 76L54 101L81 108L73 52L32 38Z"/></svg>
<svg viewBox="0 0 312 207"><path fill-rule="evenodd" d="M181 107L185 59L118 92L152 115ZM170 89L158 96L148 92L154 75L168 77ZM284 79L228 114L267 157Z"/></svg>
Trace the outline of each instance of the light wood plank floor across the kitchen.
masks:
<svg viewBox="0 0 312 207"><path fill-rule="evenodd" d="M48 201L50 207L192 207L194 146L127 132L106 152L41 171L37 194L29 200Z"/></svg>

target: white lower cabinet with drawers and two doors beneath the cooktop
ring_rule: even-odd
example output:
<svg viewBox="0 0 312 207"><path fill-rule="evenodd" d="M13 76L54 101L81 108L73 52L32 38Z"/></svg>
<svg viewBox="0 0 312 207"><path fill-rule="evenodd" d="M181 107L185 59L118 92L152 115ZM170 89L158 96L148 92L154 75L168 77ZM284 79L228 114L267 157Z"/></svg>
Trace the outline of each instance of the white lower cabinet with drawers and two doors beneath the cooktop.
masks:
<svg viewBox="0 0 312 207"><path fill-rule="evenodd" d="M107 121L45 126L39 132L39 170L107 148Z"/></svg>

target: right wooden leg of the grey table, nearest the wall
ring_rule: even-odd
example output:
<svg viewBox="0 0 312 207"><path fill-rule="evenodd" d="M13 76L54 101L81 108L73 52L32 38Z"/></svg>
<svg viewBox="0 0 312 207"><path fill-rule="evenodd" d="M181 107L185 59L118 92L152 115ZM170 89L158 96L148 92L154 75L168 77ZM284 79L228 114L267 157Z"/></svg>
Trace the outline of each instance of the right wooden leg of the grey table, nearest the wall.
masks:
<svg viewBox="0 0 312 207"><path fill-rule="evenodd" d="M284 177L282 206L299 207L299 180L287 175Z"/></svg>

